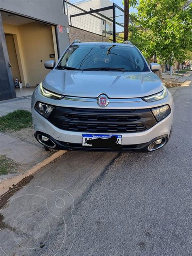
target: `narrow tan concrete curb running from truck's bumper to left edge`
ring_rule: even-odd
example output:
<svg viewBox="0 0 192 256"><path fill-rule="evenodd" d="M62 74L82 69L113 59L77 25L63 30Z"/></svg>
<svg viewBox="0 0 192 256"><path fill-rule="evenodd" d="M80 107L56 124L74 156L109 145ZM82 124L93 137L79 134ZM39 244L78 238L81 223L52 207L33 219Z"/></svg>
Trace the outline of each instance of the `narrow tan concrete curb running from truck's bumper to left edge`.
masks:
<svg viewBox="0 0 192 256"><path fill-rule="evenodd" d="M2 180L0 182L0 196L2 196L2 194L6 193L9 190L9 188L12 188L13 185L15 185L19 181L21 181L21 179L36 173L37 171L39 171L39 169L41 169L45 165L49 164L50 162L52 162L56 158L62 156L66 152L67 151L64 151L64 150L56 151L51 156L44 159L42 162L40 162L40 163L34 165L32 168L28 169L25 173L19 174L19 175L14 176L14 177L11 177L9 179Z"/></svg>

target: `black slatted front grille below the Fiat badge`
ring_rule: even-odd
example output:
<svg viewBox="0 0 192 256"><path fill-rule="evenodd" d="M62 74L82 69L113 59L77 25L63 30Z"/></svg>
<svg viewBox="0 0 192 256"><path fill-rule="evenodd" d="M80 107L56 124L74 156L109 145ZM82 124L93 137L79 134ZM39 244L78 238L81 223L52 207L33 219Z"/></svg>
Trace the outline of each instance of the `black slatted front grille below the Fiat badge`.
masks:
<svg viewBox="0 0 192 256"><path fill-rule="evenodd" d="M141 132L156 124L150 109L55 107L49 121L62 130L90 133Z"/></svg>

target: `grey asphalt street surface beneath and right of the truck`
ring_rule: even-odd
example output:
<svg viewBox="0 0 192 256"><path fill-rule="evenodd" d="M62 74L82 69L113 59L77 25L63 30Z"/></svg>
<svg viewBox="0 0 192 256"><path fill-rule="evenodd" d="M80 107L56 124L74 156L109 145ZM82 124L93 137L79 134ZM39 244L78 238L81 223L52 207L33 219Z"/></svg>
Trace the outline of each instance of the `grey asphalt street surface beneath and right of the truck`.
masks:
<svg viewBox="0 0 192 256"><path fill-rule="evenodd" d="M171 93L164 148L67 152L3 197L0 255L190 255L192 88Z"/></svg>

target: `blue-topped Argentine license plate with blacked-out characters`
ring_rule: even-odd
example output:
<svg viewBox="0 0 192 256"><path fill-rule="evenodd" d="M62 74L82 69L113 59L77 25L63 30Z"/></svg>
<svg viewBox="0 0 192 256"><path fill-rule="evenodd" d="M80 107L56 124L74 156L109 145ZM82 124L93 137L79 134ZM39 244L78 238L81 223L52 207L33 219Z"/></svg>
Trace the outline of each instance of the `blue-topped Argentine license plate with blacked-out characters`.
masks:
<svg viewBox="0 0 192 256"><path fill-rule="evenodd" d="M82 139L82 145L88 147L113 147L113 144L122 144L122 135L117 134L83 134ZM108 140L105 141L106 139Z"/></svg>

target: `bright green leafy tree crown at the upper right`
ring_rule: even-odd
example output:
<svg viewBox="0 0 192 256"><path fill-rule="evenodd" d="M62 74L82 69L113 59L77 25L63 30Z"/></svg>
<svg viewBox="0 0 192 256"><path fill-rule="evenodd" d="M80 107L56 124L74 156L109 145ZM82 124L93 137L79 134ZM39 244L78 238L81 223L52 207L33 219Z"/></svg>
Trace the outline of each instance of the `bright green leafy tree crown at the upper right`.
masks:
<svg viewBox="0 0 192 256"><path fill-rule="evenodd" d="M146 58L182 62L192 49L192 3L187 0L140 0L132 14L130 37Z"/></svg>

